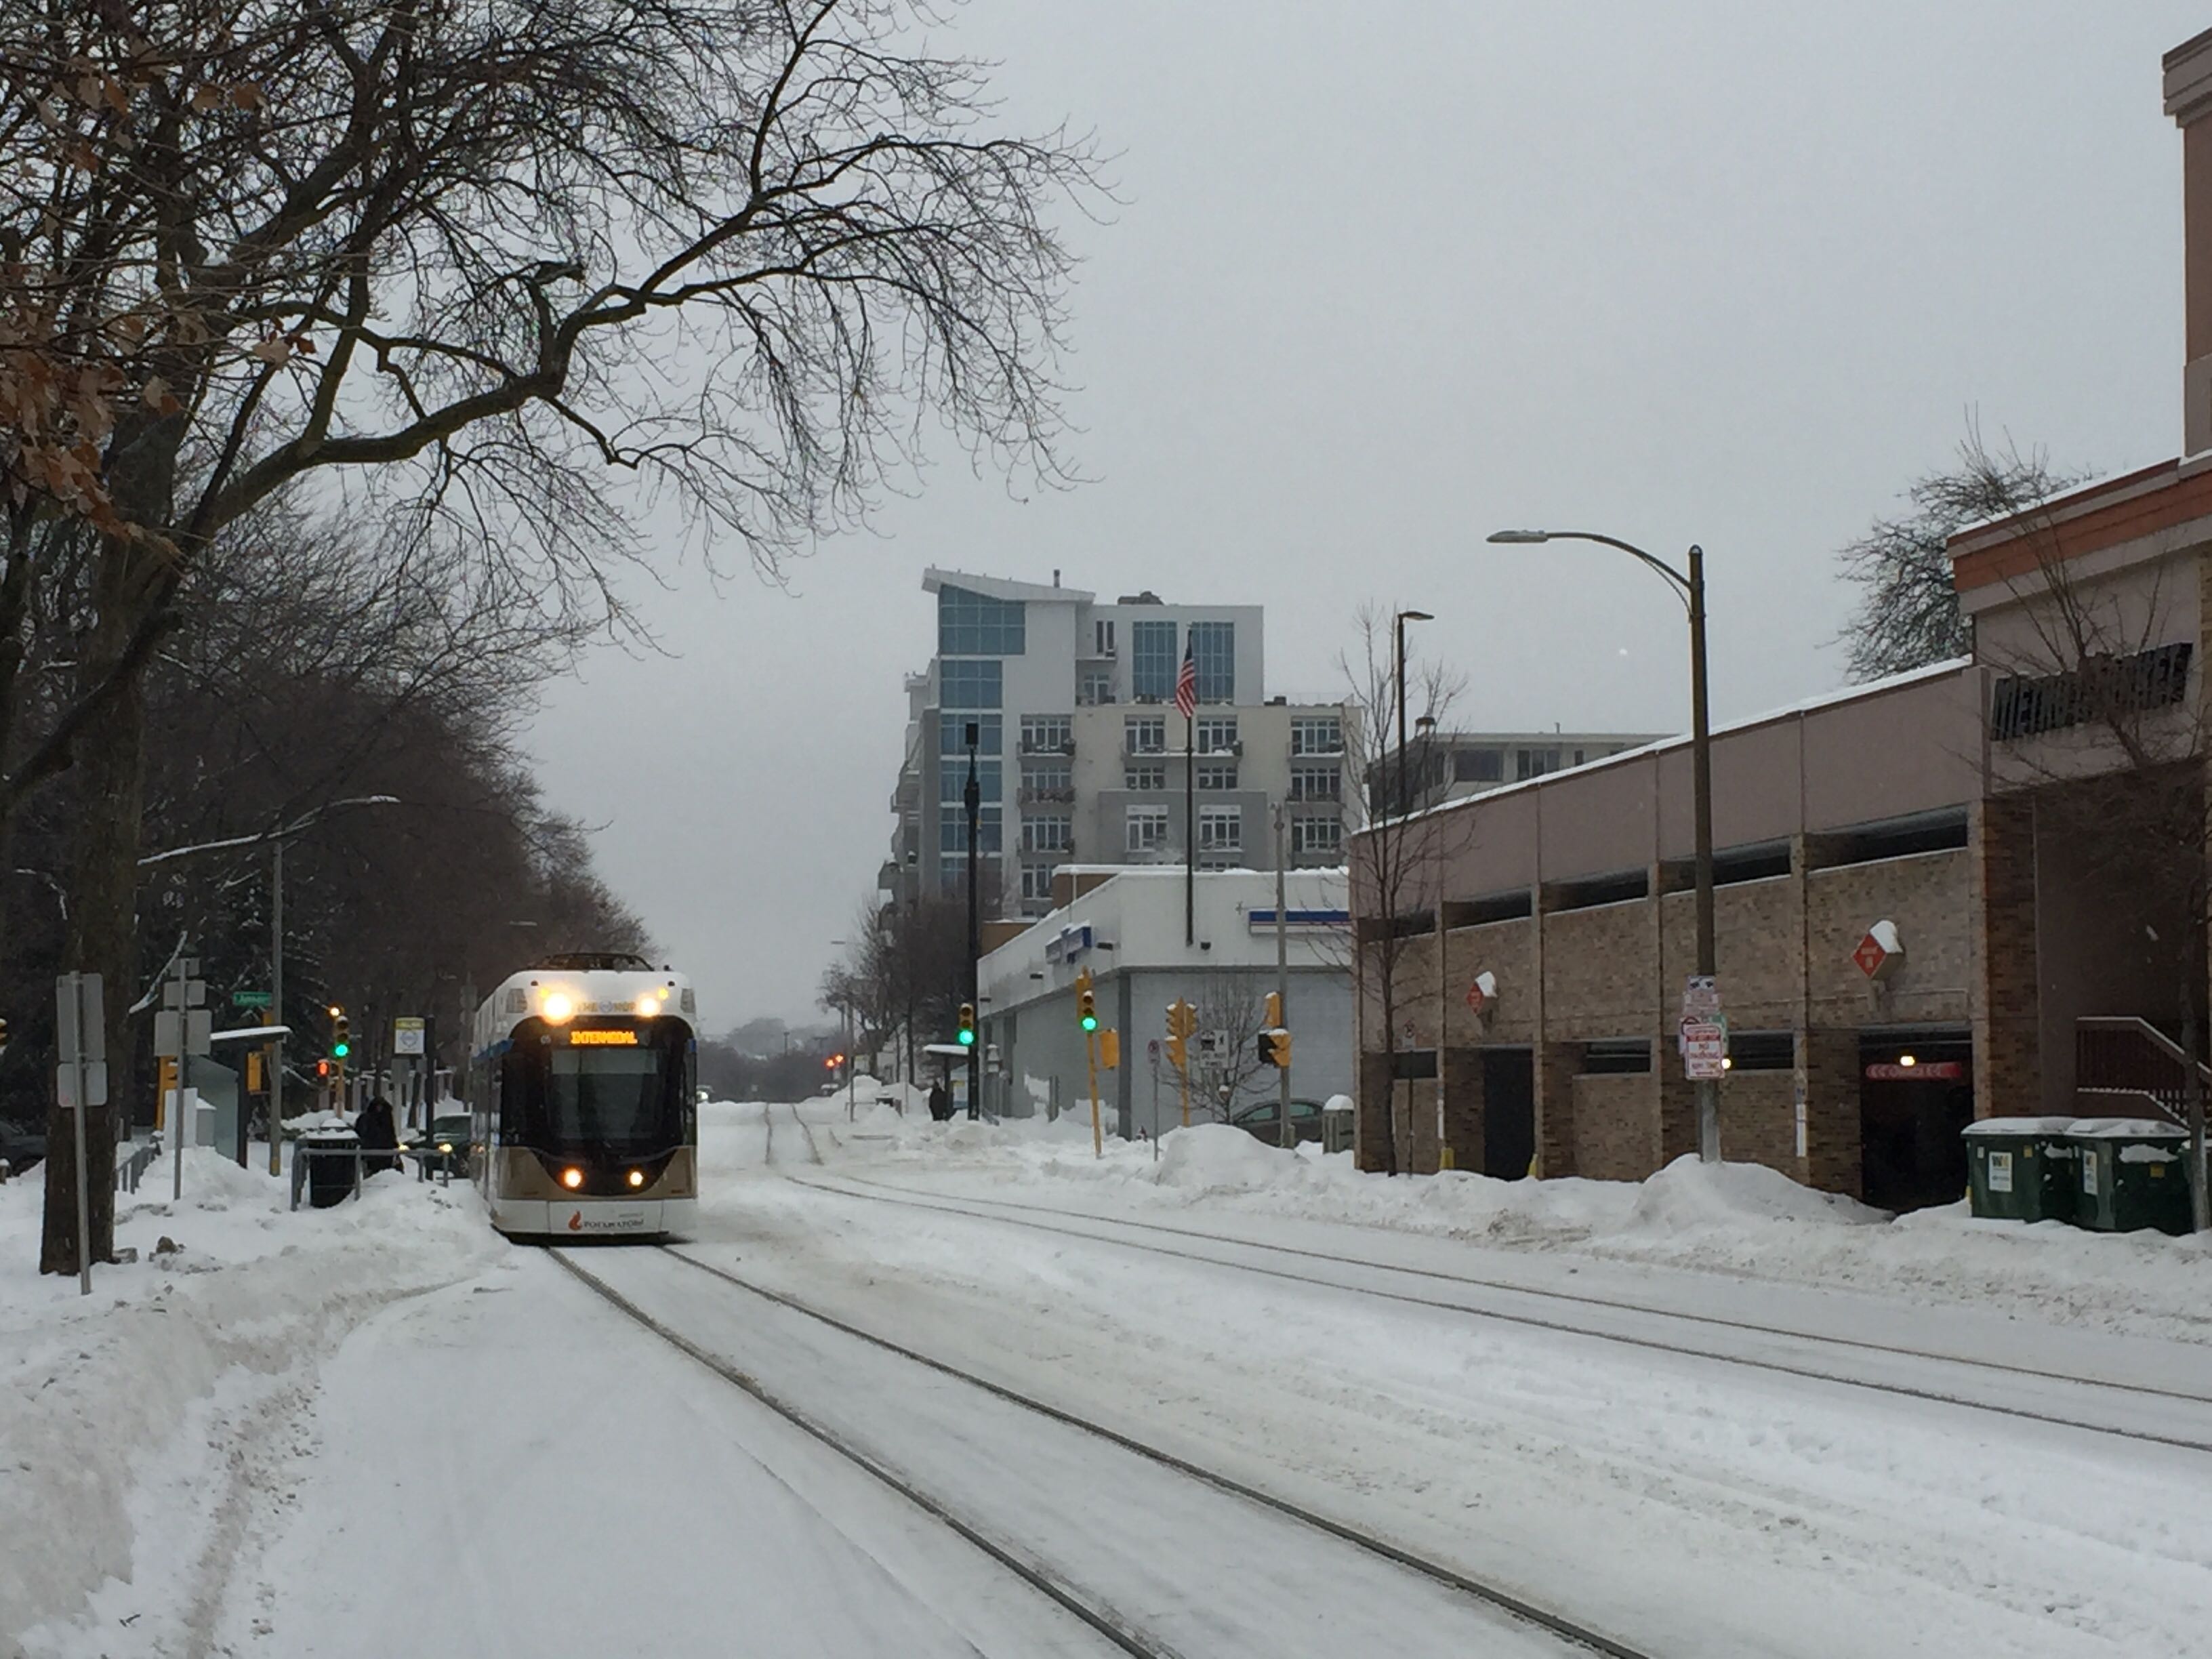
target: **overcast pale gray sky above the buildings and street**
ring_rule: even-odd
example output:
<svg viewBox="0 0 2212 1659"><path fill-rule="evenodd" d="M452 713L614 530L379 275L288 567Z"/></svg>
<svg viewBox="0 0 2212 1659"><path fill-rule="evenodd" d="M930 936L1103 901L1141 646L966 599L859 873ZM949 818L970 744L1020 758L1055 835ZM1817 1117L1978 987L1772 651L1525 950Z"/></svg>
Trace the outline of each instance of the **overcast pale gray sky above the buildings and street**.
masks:
<svg viewBox="0 0 2212 1659"><path fill-rule="evenodd" d="M812 1018L889 845L925 564L1267 606L1267 692L1340 695L1367 599L1433 611L1464 723L1688 721L1681 613L1597 549L1703 542L1717 717L1843 677L1834 549L1984 436L2172 456L2203 4L973 0L1009 122L1119 155L1075 221L1077 460L947 449L790 591L639 591L533 730L551 801L706 998ZM670 538L675 540L675 538Z"/></svg>

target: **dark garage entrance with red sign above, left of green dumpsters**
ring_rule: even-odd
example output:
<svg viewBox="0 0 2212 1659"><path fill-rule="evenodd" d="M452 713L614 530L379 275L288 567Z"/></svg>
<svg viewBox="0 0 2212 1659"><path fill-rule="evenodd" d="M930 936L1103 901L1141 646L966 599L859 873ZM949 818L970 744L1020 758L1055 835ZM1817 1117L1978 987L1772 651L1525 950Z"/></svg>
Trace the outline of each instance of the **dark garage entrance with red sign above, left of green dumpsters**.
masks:
<svg viewBox="0 0 2212 1659"><path fill-rule="evenodd" d="M1973 1040L1964 1026L1858 1040L1858 1155L1867 1203L1922 1210L1966 1192Z"/></svg>

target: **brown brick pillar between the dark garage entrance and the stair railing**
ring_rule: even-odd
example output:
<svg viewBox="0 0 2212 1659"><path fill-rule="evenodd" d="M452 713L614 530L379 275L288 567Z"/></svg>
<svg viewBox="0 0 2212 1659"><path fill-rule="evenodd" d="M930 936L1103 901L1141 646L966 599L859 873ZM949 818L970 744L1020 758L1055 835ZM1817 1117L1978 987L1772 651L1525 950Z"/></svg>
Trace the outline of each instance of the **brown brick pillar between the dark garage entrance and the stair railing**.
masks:
<svg viewBox="0 0 2212 1659"><path fill-rule="evenodd" d="M1973 916L1973 1113L2039 1110L2035 801L1995 794L1966 818Z"/></svg>

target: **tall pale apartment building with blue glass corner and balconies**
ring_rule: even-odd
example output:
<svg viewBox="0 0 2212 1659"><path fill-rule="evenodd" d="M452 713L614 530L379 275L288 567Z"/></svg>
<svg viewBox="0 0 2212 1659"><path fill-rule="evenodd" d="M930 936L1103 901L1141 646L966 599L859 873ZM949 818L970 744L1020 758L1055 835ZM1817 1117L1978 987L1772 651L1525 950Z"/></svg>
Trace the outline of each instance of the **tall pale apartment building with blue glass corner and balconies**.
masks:
<svg viewBox="0 0 2212 1659"><path fill-rule="evenodd" d="M938 606L938 650L905 686L885 891L964 891L971 726L978 852L1004 916L1048 911L1053 869L1077 858L1181 863L1192 830L1206 869L1274 869L1276 803L1292 865L1343 863L1356 794L1345 787L1352 712L1267 701L1261 606L1166 604L1155 593L1102 604L1057 582L936 568L922 591ZM1175 712L1186 648L1199 681L1188 761Z"/></svg>

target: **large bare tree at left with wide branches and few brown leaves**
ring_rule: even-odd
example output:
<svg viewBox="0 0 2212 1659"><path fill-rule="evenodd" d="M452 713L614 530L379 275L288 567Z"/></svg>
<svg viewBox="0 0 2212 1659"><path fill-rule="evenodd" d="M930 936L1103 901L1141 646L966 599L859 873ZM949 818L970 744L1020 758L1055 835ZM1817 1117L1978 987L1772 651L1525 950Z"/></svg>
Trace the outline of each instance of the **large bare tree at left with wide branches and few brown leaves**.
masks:
<svg viewBox="0 0 2212 1659"><path fill-rule="evenodd" d="M927 20L0 0L0 825L69 768L97 803L71 964L135 978L148 664L285 489L619 622L641 495L604 471L765 568L865 515L927 418L1066 478L1046 212L1095 159L998 131ZM15 646L58 544L84 626L27 728Z"/></svg>

